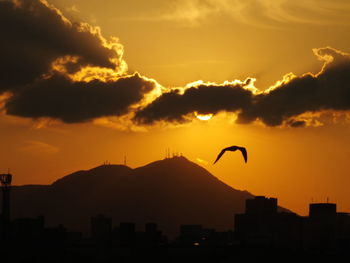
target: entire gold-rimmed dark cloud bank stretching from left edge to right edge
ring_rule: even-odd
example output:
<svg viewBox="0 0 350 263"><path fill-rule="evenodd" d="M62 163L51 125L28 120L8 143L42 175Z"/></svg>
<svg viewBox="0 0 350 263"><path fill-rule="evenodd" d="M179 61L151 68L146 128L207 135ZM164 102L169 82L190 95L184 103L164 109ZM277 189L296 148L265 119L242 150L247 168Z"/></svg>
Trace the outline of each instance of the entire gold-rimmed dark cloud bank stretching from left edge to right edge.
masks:
<svg viewBox="0 0 350 263"><path fill-rule="evenodd" d="M254 78L165 88L128 74L116 38L44 0L0 0L0 34L0 97L9 115L65 123L131 116L142 126L232 112L238 123L302 127L300 115L350 110L350 56L331 47L313 50L319 73L289 73L261 92Z"/></svg>

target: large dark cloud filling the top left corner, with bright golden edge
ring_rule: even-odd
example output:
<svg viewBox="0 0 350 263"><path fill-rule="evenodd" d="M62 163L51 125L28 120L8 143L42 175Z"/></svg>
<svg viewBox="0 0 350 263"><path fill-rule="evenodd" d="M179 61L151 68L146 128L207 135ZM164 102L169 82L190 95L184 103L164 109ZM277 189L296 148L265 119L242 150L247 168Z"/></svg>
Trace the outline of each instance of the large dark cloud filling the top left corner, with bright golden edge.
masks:
<svg viewBox="0 0 350 263"><path fill-rule="evenodd" d="M71 23L40 0L0 0L0 35L0 92L33 82L60 57L76 57L75 70L118 70L122 62L120 44L107 42L97 28Z"/></svg>

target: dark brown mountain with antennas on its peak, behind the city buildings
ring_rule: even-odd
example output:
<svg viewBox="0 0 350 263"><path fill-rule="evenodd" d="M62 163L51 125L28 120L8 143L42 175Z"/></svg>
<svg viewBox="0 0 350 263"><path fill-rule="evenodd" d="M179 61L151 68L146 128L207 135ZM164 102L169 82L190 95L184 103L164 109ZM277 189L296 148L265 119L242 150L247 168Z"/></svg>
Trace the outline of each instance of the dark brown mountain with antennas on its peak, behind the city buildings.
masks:
<svg viewBox="0 0 350 263"><path fill-rule="evenodd" d="M253 196L235 190L185 157L131 169L102 165L67 175L47 186L14 186L12 217L44 215L48 225L89 233L90 218L104 214L141 229L156 222L174 236L180 224L233 228L234 214L244 212Z"/></svg>

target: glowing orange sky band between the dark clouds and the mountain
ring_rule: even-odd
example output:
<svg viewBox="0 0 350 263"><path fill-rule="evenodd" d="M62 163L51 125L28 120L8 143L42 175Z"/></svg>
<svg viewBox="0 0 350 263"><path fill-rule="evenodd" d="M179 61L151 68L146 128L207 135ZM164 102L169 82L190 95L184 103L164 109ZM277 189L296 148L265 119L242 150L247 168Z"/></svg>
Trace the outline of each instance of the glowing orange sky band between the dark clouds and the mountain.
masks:
<svg viewBox="0 0 350 263"><path fill-rule="evenodd" d="M149 132L137 133L133 127L121 129L125 128L126 123L119 126L119 118L100 118L94 121L94 125L57 126L66 129L65 134L49 130L50 127L28 132L25 129L27 126L10 124L2 118L1 124L6 121L9 127L8 131L0 131L2 136L12 136L13 139L4 141L4 148L11 151L0 154L4 160L0 168L14 169L15 184L46 184L79 169L93 168L106 159L112 163L122 163L125 154L130 167L142 166L161 159L163 149L170 147L179 149L190 161L205 167L226 184L256 195L275 196L280 205L297 213L307 213L310 196L320 199L322 193L328 191L339 200L339 205L343 206L340 209L349 210L349 202L343 201L347 200L345 186L348 178L346 169L342 167L346 167L347 149L350 147L350 141L344 140L349 132L346 126L325 126L317 130L312 127L272 129L229 124L227 118L220 115L210 122L197 121L167 129L151 127ZM330 138L330 132L337 136ZM212 165L218 151L230 143L247 147L250 154L248 165L243 165L240 158L229 155L220 165ZM315 152L315 145L327 150ZM140 147L150 149L147 155L139 150ZM82 149L84 154L81 154ZM72 161L75 156L79 158ZM293 165L290 165L291 162ZM339 165L334 166L335 163ZM337 174L338 179L332 180L326 176L328 173ZM331 189L327 185L331 185ZM302 189L298 198L293 194L295 188Z"/></svg>

